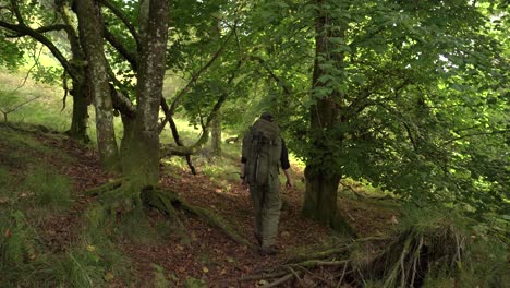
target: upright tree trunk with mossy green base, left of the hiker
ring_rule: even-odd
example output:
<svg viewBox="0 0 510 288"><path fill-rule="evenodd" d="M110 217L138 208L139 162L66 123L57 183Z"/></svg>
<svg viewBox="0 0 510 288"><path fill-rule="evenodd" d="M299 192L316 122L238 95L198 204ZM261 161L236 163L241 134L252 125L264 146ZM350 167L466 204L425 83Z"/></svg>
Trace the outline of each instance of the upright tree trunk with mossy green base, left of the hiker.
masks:
<svg viewBox="0 0 510 288"><path fill-rule="evenodd" d="M136 117L122 140L122 168L134 190L156 185L159 181L158 116L165 76L168 5L167 0L146 0L141 5Z"/></svg>

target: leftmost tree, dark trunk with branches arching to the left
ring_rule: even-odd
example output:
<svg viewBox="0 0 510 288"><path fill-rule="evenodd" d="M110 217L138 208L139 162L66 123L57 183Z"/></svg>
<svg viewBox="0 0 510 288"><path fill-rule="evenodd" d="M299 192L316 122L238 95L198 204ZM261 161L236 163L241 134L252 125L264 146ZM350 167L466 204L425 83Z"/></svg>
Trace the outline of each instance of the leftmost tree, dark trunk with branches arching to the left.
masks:
<svg viewBox="0 0 510 288"><path fill-rule="evenodd" d="M87 136L87 107L89 104L88 88L86 86L87 72L85 69L84 52L77 38L75 23L70 15L69 8L65 1L41 1L40 3L28 4L25 1L5 1L2 4L0 16L0 27L7 33L9 38L32 38L35 41L44 45L51 55L60 62L64 70L64 86L68 76L72 81L70 91L73 96L73 112L71 128L69 134L71 137L88 141ZM29 15L29 16L28 16ZM64 32L65 37L60 37L60 32ZM15 59L16 51L31 49L24 45L26 41L3 41L5 49L16 47L16 50L5 53L10 62ZM62 48L63 47L63 48ZM66 56L65 50L70 49L71 55ZM3 53L2 53L3 55ZM48 72L46 72L48 73ZM59 79L58 76L46 75L45 79Z"/></svg>

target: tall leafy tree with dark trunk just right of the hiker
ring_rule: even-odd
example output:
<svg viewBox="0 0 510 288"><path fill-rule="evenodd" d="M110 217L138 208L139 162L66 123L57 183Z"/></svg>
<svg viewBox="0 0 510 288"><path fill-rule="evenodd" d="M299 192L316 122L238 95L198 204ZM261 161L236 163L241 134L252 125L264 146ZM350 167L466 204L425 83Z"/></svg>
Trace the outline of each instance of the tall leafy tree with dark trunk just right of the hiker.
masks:
<svg viewBox="0 0 510 288"><path fill-rule="evenodd" d="M462 201L481 213L487 207L477 197L501 202L500 184L482 180L493 188L484 192L474 170L456 159L460 151L445 146L450 133L462 130L456 121L466 120L445 121L442 112L485 107L489 95L500 103L498 89L508 79L500 70L508 67L502 47L484 28L495 27L485 8L461 0L324 0L313 9L318 16L304 213L335 227L331 206L344 175L422 205ZM508 129L498 118L483 134L502 144L499 134Z"/></svg>

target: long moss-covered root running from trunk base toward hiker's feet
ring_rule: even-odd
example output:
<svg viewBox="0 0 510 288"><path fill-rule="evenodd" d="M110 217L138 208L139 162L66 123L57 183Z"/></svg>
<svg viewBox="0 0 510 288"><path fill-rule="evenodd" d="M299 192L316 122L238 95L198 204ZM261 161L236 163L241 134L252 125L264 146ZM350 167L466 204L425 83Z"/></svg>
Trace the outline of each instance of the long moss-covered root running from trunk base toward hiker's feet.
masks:
<svg viewBox="0 0 510 288"><path fill-rule="evenodd" d="M184 200L180 199L175 193L161 191L157 189L147 189L142 192L142 201L151 207L155 207L162 213L168 214L169 216L174 215L174 206L182 207L183 209L198 216L201 219L205 220L207 224L220 228L223 233L230 237L235 242L246 245L248 248L254 248L246 239L241 237L235 230L230 227L224 219L221 218L218 214L198 206L194 206Z"/></svg>

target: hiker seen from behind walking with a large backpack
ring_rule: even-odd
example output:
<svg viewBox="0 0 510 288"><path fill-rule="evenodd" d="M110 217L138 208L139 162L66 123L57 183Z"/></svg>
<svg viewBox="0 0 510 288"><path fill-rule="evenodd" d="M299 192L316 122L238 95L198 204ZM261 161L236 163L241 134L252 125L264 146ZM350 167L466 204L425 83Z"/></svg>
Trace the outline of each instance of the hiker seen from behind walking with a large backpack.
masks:
<svg viewBox="0 0 510 288"><path fill-rule="evenodd" d="M255 213L255 238L263 255L278 253L275 239L280 217L279 164L292 187L289 153L280 129L269 112L264 112L243 137L241 157L241 184L250 185L250 195Z"/></svg>

